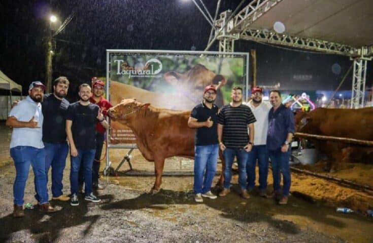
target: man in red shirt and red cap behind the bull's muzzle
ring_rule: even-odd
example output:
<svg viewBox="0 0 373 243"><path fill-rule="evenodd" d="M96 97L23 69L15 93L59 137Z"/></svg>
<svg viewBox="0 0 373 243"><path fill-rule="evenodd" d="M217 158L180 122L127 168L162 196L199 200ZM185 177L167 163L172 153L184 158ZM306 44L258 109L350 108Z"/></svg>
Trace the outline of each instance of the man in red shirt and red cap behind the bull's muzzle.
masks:
<svg viewBox="0 0 373 243"><path fill-rule="evenodd" d="M103 113L104 117L106 118L107 111L113 107L113 105L104 98L105 92L105 83L103 80L96 79L93 83L93 94L90 97L89 101L92 104L98 105L101 112ZM98 183L99 178L99 168L100 168L100 160L101 160L101 152L103 150L104 140L105 140L105 132L106 129L101 125L101 123L97 123L96 125L96 153L94 155L93 166L92 166L92 188L102 190L104 187ZM81 168L79 171L79 186L83 188L83 176L84 172Z"/></svg>

